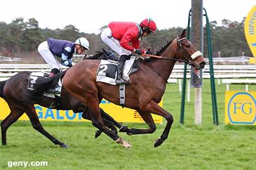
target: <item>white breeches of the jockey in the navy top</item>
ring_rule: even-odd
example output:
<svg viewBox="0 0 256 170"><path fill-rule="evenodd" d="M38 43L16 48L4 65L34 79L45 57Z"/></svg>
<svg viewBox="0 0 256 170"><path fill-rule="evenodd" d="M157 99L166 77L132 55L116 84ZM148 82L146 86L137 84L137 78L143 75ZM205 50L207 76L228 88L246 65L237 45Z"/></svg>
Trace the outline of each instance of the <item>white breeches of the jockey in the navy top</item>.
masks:
<svg viewBox="0 0 256 170"><path fill-rule="evenodd" d="M47 64L51 66L51 69L57 68L59 70L61 68L61 65L59 65L59 62L57 62L55 56L52 54L47 41L39 44L37 50Z"/></svg>

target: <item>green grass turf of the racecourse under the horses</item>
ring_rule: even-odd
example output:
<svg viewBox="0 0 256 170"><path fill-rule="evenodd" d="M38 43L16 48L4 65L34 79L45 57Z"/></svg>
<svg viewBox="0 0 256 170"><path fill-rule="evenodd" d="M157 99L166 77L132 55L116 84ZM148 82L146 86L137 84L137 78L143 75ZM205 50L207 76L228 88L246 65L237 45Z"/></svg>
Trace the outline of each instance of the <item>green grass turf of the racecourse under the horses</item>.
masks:
<svg viewBox="0 0 256 170"><path fill-rule="evenodd" d="M29 121L18 121L7 131L7 146L0 146L0 169L256 169L255 126L224 125L225 85L216 85L219 126L213 125L210 81L204 80L202 125L194 125L194 89L185 106L185 124L180 125L181 93L178 85L167 85L164 108L174 116L174 124L165 142L154 148L165 127L157 125L154 134L128 136L119 133L133 148L122 148L102 134L94 139L91 123L42 121L44 128L69 144L62 149L36 130ZM230 85L244 90L244 85ZM255 85L249 85L255 91ZM129 127L147 128L129 123ZM47 161L48 166L13 166L8 161Z"/></svg>

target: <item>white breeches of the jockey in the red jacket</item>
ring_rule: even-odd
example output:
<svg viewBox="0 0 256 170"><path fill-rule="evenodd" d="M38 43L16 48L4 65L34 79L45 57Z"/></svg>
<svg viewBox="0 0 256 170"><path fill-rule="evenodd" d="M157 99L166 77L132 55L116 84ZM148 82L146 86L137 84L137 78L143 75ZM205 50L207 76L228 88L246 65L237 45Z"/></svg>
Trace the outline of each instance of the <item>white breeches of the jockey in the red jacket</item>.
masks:
<svg viewBox="0 0 256 170"><path fill-rule="evenodd" d="M112 37L112 31L109 27L101 32L101 39L105 42L112 50L114 50L118 55L130 55L131 51L124 49L120 45L120 41Z"/></svg>

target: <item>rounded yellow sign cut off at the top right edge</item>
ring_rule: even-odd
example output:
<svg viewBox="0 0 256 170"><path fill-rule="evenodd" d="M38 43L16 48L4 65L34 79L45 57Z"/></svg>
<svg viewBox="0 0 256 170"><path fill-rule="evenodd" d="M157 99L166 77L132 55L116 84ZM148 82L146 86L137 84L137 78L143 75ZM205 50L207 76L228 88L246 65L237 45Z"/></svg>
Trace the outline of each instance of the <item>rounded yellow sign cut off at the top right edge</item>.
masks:
<svg viewBox="0 0 256 170"><path fill-rule="evenodd" d="M245 19L244 32L252 55L256 57L256 5L252 7Z"/></svg>

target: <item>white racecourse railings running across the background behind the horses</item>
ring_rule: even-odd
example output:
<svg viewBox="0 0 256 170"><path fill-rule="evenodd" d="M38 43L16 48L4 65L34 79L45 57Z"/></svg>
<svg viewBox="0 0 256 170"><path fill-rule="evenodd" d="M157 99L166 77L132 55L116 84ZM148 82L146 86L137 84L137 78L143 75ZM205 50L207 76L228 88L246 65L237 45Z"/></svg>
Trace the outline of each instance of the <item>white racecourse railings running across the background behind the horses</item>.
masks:
<svg viewBox="0 0 256 170"><path fill-rule="evenodd" d="M63 70L68 67L61 67ZM0 64L0 78L5 80L12 75L21 72L50 72L47 64ZM172 74L170 75L170 83L177 83L177 80L183 78L184 65L176 64ZM255 65L214 65L215 78L255 78ZM187 78L190 78L190 67L187 67ZM203 78L210 78L209 65L205 65L203 69Z"/></svg>

